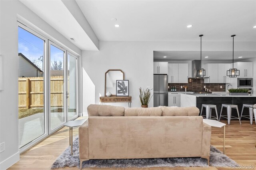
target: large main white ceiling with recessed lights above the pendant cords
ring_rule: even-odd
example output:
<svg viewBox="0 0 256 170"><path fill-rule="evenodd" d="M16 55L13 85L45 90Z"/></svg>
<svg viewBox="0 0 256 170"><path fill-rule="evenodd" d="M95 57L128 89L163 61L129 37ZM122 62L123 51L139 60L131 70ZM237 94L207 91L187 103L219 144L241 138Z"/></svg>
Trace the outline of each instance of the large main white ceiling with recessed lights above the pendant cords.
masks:
<svg viewBox="0 0 256 170"><path fill-rule="evenodd" d="M255 0L76 0L99 40L256 41ZM116 22L111 19L117 18ZM120 24L115 28L114 24ZM186 28L192 24L192 28Z"/></svg>

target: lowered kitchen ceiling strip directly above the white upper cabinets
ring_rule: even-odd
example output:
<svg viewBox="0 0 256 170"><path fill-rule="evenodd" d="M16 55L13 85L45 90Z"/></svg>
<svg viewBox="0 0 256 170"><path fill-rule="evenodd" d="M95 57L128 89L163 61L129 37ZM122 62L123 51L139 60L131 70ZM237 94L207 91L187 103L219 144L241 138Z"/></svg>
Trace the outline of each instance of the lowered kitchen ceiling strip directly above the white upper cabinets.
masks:
<svg viewBox="0 0 256 170"><path fill-rule="evenodd" d="M166 58L164 58L166 56ZM208 58L205 58L208 56ZM238 58L242 56L242 58ZM234 51L234 60L240 61L256 57L256 51ZM200 59L200 51L154 51L154 61L186 61ZM232 61L232 51L202 51L202 60L204 61Z"/></svg>

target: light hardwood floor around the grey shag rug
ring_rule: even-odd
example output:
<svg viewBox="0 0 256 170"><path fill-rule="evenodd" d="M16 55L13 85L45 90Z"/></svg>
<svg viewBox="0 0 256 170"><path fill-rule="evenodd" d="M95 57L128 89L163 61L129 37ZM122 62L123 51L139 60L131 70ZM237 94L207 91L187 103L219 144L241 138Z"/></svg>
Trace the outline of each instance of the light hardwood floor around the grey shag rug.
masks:
<svg viewBox="0 0 256 170"><path fill-rule="evenodd" d="M79 119L83 119L80 117ZM226 123L226 121L222 121ZM78 128L73 130L74 137L78 135ZM8 170L48 170L54 160L68 147L69 129L61 128L50 137L30 148L20 155L20 161L14 164ZM238 121L231 121L226 126L226 155L235 160L238 164L244 166L254 166L256 168L256 125L250 125L249 121L242 121L242 126ZM223 128L212 128L211 144L222 151ZM76 169L60 168L61 169ZM86 168L83 170L99 170L100 168ZM114 168L111 168L114 169ZM117 169L117 168L116 168ZM121 170L137 170L138 168L122 168ZM230 168L139 168L139 170L224 170ZM109 169L104 169L109 170Z"/></svg>

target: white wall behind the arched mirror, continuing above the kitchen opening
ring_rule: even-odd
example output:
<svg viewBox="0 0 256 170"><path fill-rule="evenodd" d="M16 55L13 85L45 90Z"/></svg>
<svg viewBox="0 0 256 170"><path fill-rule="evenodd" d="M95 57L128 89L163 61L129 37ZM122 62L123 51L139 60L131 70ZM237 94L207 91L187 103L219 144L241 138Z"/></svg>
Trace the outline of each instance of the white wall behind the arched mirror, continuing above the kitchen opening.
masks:
<svg viewBox="0 0 256 170"><path fill-rule="evenodd" d="M255 42L237 42L238 51L255 51ZM205 42L205 51L228 51L230 42ZM132 107L140 107L139 88L153 88L153 51L197 51L198 42L118 42L100 41L100 51L82 51L82 69L94 84L95 96L89 91L83 80L83 99L95 98L99 103L99 94L104 95L104 75L108 69L122 69L125 79L129 80ZM84 75L83 75L84 79ZM83 112L93 101L83 100ZM153 106L153 100L149 107ZM114 105L114 103L110 103ZM115 105L128 105L116 103Z"/></svg>

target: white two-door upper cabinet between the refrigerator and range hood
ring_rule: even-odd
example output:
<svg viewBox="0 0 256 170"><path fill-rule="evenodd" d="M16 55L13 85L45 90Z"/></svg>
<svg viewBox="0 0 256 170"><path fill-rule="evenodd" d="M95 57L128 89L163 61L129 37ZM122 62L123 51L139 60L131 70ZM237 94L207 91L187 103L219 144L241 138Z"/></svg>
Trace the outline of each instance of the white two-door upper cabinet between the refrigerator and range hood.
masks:
<svg viewBox="0 0 256 170"><path fill-rule="evenodd" d="M169 63L168 83L188 83L188 63Z"/></svg>

